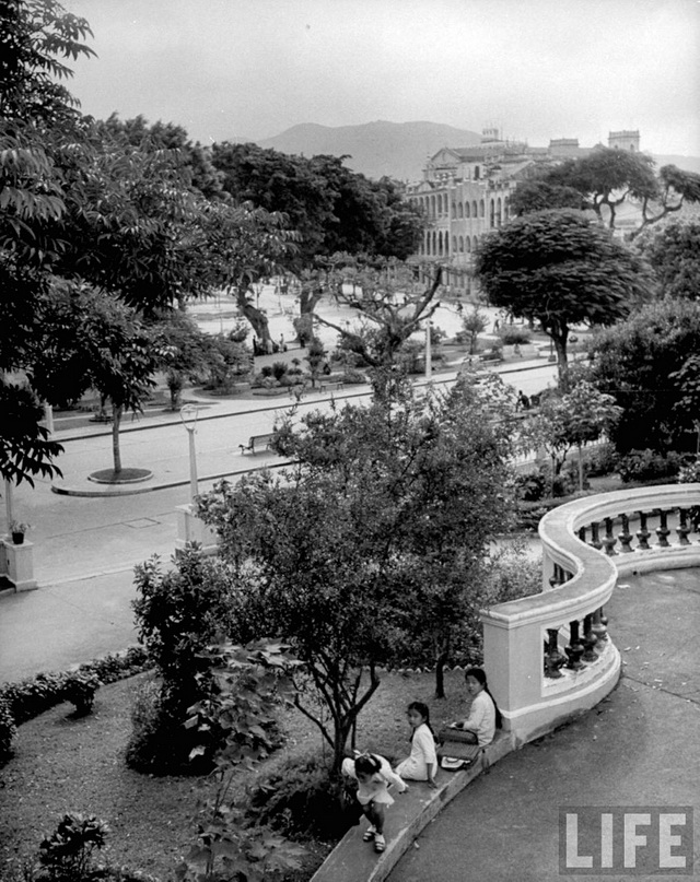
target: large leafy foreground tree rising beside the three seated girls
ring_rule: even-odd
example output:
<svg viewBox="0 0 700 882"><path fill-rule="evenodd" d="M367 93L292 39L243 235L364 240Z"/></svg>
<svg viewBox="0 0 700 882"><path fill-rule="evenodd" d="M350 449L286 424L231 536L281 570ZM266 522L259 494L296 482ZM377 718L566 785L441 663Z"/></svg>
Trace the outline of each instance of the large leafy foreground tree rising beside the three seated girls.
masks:
<svg viewBox="0 0 700 882"><path fill-rule="evenodd" d="M277 448L296 463L283 475L250 474L200 504L241 585L236 637L292 643L331 722L301 705L337 764L380 663L419 639L439 663L469 651L455 634L509 508L510 433L488 407L465 383L427 410L405 387L312 413L280 427Z"/></svg>

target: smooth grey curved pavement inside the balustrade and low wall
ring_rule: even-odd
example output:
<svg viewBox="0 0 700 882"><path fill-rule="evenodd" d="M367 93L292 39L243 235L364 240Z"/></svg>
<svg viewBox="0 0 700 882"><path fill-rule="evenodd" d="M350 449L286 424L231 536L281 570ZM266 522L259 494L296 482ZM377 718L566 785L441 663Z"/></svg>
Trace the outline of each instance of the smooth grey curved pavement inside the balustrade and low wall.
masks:
<svg viewBox="0 0 700 882"><path fill-rule="evenodd" d="M623 658L618 687L474 780L422 832L390 882L561 882L560 807L692 805L700 825L700 572L622 580L606 614ZM660 877L638 869L586 878Z"/></svg>

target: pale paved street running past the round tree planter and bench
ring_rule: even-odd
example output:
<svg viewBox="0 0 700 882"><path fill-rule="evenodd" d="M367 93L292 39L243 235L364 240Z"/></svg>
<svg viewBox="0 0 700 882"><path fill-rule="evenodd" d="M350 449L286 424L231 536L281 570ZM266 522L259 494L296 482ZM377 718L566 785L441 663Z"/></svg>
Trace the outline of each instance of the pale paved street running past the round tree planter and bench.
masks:
<svg viewBox="0 0 700 882"><path fill-rule="evenodd" d="M552 368L546 365L504 376L515 379L517 388L532 393L551 380ZM369 399L365 395L351 400ZM238 445L247 443L252 434L269 432L275 420L289 410L289 404L288 399L275 399L272 403L236 401L214 403L202 411L196 434L199 474L223 474L275 461L269 456L242 456ZM226 412L226 408L233 407L236 411ZM310 398L302 403L299 414L328 407L328 400ZM213 416L217 419L208 419ZM179 482L180 485L132 496L100 498L57 495L51 492L51 482L45 479L38 479L34 490L26 483L15 487L15 516L33 525L28 538L35 543L35 572L40 584L131 565L135 560L142 560L142 549L149 541L160 553L165 548L172 550L176 532L175 507L189 501L187 436L179 421L142 423L138 431L130 431L131 427L127 421L121 433L124 466L149 468L155 482L171 485ZM91 426L89 431L94 434L71 439L73 432L69 431L57 436L66 448L58 464L67 485L84 483L88 474L112 464L108 431L104 426ZM202 481L200 489L207 490L211 483Z"/></svg>

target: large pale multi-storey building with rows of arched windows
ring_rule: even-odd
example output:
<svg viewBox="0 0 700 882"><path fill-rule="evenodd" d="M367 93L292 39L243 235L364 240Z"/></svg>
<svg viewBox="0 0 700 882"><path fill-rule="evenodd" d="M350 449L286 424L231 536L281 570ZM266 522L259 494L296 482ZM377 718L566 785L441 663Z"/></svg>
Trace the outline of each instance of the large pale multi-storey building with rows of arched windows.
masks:
<svg viewBox="0 0 700 882"><path fill-rule="evenodd" d="M639 132L610 132L608 145L639 150ZM602 146L598 144L596 146ZM443 267L443 283L453 294L472 289L471 255L479 238L509 219L509 196L542 163L588 154L575 138L551 140L547 148L502 140L485 129L481 142L468 148L442 148L428 160L423 178L406 188L406 198L421 209L427 224L413 262L425 278L431 264Z"/></svg>

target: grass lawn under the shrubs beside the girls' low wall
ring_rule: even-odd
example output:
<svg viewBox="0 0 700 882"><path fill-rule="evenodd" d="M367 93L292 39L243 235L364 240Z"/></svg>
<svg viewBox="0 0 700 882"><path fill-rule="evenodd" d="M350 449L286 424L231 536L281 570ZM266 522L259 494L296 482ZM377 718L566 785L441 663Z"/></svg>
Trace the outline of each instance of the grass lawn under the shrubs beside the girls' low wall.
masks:
<svg viewBox="0 0 700 882"><path fill-rule="evenodd" d="M92 715L70 716L63 704L19 727L14 757L0 769L0 879L13 857L34 855L44 833L65 812L95 814L109 825L103 859L160 877L173 869L194 842L191 816L205 778L141 775L127 768L124 750L130 710L139 684L149 673L103 686ZM436 701L432 673L386 673L360 717L358 746L399 760L409 752L406 706L425 702L434 728L465 713L467 693L460 671L445 675L447 698ZM324 750L318 730L302 714L284 712L287 744L256 774L242 772L241 788L271 772L290 755ZM304 781L299 783L300 788ZM305 875L330 850L310 843Z"/></svg>

